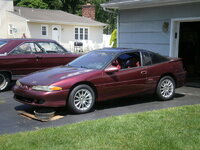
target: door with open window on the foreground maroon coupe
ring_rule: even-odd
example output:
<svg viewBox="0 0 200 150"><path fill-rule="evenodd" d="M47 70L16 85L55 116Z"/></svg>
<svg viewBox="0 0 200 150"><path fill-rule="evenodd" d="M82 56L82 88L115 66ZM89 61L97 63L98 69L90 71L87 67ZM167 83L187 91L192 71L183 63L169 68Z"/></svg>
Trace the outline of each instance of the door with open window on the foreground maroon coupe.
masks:
<svg viewBox="0 0 200 150"><path fill-rule="evenodd" d="M135 54L136 53L126 53L120 55L117 58L118 61L120 60L121 66L119 71L103 73L105 84L102 87L102 94L105 99L137 94L146 90L147 71L145 67L141 66L140 53L137 52L140 63L139 66L128 67L126 64Z"/></svg>

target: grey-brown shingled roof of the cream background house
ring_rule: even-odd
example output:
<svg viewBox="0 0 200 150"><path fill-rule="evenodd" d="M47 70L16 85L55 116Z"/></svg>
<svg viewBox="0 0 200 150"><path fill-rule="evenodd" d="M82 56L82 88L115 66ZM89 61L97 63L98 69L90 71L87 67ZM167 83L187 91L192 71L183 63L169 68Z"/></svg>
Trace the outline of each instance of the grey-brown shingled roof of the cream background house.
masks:
<svg viewBox="0 0 200 150"><path fill-rule="evenodd" d="M106 24L61 10L35 9L26 7L14 7L14 13L27 19L29 22L47 22L59 24L75 24L90 26L105 26Z"/></svg>

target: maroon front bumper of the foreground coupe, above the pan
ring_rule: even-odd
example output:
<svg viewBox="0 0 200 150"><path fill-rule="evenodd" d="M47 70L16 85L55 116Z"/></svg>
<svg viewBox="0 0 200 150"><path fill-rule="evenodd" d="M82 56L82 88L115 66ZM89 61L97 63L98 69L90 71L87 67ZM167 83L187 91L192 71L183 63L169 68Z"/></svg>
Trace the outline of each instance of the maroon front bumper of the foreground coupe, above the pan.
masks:
<svg viewBox="0 0 200 150"><path fill-rule="evenodd" d="M63 107L66 105L69 90L44 92L24 89L17 85L13 88L15 100L33 106Z"/></svg>

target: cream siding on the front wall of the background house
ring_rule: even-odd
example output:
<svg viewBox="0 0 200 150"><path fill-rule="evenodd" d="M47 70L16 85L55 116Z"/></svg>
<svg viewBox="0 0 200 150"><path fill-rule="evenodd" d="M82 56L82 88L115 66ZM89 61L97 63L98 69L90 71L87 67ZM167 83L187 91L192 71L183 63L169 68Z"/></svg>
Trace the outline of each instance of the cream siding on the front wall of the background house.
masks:
<svg viewBox="0 0 200 150"><path fill-rule="evenodd" d="M48 36L41 35L41 25L48 25ZM59 24L45 24L45 23L28 23L28 37L31 38L41 38L41 39L52 39L52 25ZM60 25L61 26L61 41L60 44L63 45L70 51L74 51L75 40L75 27L87 27L89 29L88 40L81 40L78 42L83 43L84 51L91 51L94 49L103 47L103 27L93 27L93 26L76 26L76 25Z"/></svg>

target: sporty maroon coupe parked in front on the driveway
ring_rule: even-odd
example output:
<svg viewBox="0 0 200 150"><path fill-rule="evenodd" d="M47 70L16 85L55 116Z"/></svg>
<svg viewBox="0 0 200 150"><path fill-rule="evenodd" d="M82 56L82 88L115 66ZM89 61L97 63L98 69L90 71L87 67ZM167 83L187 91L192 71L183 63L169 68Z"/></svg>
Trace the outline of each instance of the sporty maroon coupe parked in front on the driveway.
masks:
<svg viewBox="0 0 200 150"><path fill-rule="evenodd" d="M33 73L17 81L14 98L34 106L67 105L74 113L90 111L95 101L139 93L161 100L183 86L186 72L179 58L132 49L102 49L68 65Z"/></svg>

